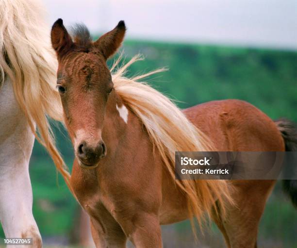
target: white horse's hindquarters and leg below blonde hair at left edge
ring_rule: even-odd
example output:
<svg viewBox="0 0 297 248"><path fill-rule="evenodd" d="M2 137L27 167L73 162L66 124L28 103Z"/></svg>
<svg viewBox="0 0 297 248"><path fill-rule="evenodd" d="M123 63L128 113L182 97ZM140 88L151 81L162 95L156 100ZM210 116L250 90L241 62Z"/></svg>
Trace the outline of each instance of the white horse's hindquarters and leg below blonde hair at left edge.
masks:
<svg viewBox="0 0 297 248"><path fill-rule="evenodd" d="M33 246L41 247L29 177L33 143L34 135L16 103L12 84L5 80L0 88L0 221L6 237L32 237Z"/></svg>

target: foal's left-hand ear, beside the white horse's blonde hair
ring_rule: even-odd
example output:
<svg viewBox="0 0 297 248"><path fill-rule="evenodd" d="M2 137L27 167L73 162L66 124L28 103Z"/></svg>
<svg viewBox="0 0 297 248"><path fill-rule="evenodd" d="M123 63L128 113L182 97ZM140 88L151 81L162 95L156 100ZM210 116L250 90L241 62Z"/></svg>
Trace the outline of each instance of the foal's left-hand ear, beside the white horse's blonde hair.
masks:
<svg viewBox="0 0 297 248"><path fill-rule="evenodd" d="M66 51L68 51L73 44L73 41L64 27L63 20L61 18L57 19L52 25L50 38L51 45L57 52L58 56L66 53Z"/></svg>

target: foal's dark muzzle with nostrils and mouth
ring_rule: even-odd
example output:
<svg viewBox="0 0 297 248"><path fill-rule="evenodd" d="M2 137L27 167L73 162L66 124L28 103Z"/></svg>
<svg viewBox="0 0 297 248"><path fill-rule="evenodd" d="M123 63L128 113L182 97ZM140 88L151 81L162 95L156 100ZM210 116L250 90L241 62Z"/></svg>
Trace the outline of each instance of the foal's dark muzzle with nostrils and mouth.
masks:
<svg viewBox="0 0 297 248"><path fill-rule="evenodd" d="M89 146L85 141L77 148L77 157L82 163L83 167L96 167L101 158L106 155L106 146L104 142L99 141L96 147Z"/></svg>

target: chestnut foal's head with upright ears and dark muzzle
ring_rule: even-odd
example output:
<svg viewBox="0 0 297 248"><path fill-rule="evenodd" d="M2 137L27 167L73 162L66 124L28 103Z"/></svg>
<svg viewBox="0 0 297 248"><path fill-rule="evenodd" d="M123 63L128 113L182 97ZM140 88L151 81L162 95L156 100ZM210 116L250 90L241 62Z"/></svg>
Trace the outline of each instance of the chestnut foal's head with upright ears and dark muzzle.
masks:
<svg viewBox="0 0 297 248"><path fill-rule="evenodd" d="M105 106L113 91L106 60L115 53L125 35L125 23L92 42L83 25L74 29L74 40L63 20L51 29L51 43L58 56L57 88L64 108L65 123L75 155L83 167L95 167L106 155L101 137Z"/></svg>

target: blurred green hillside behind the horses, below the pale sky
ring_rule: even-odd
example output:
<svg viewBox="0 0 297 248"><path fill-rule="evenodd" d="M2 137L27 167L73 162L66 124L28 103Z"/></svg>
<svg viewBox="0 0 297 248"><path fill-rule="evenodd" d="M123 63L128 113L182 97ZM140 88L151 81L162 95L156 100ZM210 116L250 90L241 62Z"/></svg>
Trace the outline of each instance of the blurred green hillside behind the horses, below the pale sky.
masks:
<svg viewBox="0 0 297 248"><path fill-rule="evenodd" d="M242 99L273 119L287 117L297 121L297 51L145 41L127 41L123 49L127 60L137 53L146 58L132 65L128 75L159 67L169 69L152 76L148 82L170 98L178 100L181 108L217 99ZM61 125L54 130L58 146L71 167L73 152L67 134ZM33 214L42 236L67 237L73 226L77 205L60 176L57 180L55 167L46 151L36 142L30 174ZM188 223L178 224L173 229L181 233L190 230ZM216 233L218 231L214 228L214 235ZM261 222L261 247L297 247L296 233L297 211L283 196L278 184Z"/></svg>

